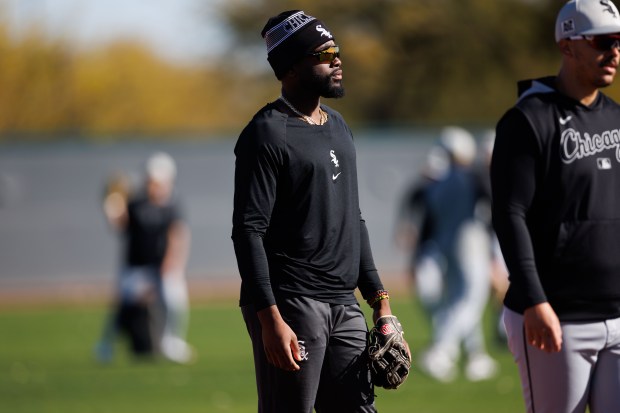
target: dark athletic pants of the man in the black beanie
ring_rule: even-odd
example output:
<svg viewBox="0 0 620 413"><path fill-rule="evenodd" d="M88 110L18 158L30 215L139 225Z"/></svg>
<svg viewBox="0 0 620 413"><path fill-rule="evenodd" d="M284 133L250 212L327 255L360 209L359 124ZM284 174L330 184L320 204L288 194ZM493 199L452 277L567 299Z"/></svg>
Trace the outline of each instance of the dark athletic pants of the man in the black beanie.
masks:
<svg viewBox="0 0 620 413"><path fill-rule="evenodd" d="M359 305L306 297L278 301L302 348L301 369L269 364L252 306L241 308L252 339L259 413L375 413L366 353L368 327Z"/></svg>

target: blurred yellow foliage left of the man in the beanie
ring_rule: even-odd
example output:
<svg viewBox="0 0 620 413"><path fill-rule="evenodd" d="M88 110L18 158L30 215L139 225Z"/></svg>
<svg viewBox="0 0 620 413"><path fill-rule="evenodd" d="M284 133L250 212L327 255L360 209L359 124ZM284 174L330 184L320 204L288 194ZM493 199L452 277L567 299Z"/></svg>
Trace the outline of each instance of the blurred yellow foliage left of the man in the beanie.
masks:
<svg viewBox="0 0 620 413"><path fill-rule="evenodd" d="M77 52L36 31L11 42L0 27L0 136L206 134L240 130L260 88L242 76L166 62L119 42ZM248 83L247 81L245 83ZM239 101L232 93L244 97ZM240 118L240 115L243 118Z"/></svg>

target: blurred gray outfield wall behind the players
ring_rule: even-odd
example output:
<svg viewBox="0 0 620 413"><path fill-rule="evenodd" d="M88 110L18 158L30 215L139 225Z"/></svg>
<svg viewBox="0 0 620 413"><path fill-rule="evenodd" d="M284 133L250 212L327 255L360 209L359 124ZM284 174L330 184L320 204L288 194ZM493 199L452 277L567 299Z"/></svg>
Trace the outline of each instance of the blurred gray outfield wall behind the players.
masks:
<svg viewBox="0 0 620 413"><path fill-rule="evenodd" d="M356 136L362 214L380 271L406 266L406 254L392 240L395 214L436 132ZM139 176L156 150L178 163L176 189L192 229L189 276L237 277L230 239L234 143L231 138L0 146L0 288L113 279L119 243L101 213L104 182L114 171Z"/></svg>

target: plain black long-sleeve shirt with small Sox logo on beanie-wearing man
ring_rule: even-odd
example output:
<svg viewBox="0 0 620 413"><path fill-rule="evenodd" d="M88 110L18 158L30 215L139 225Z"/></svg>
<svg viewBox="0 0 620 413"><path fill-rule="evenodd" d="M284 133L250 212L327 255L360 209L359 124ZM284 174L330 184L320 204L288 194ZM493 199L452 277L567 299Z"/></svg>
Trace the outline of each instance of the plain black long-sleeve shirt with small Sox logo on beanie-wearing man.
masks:
<svg viewBox="0 0 620 413"><path fill-rule="evenodd" d="M325 125L262 108L235 147L232 239L240 304L281 295L352 304L383 288L359 209L355 148L342 117Z"/></svg>

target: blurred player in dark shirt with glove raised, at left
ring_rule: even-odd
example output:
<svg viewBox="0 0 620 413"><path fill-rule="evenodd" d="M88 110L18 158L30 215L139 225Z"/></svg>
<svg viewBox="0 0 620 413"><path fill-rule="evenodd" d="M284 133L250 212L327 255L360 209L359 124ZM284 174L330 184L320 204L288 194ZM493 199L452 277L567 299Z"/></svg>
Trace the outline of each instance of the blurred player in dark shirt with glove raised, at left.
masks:
<svg viewBox="0 0 620 413"><path fill-rule="evenodd" d="M173 196L175 178L174 160L156 153L146 163L142 191L132 191L122 174L108 183L103 211L122 237L123 262L117 304L96 349L101 361L112 358L118 333L136 356L161 353L179 363L194 356L185 341L190 232Z"/></svg>

